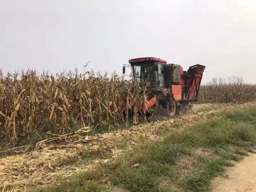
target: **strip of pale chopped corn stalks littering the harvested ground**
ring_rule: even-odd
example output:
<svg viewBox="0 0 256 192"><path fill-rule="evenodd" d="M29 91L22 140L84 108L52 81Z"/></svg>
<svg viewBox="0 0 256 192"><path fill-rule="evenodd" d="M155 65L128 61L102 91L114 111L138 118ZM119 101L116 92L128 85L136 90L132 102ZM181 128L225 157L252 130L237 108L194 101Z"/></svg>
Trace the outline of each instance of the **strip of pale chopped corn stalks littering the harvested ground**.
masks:
<svg viewBox="0 0 256 192"><path fill-rule="evenodd" d="M22 155L14 155L0 159L0 189L7 191L26 191L27 186L54 183L57 178L69 178L83 170L90 168L95 163L103 163L108 159L99 159L87 164L80 160L84 151L97 151L99 149L109 152L108 158L115 158L122 153L117 150L117 143L129 139L130 148L136 144L133 141L145 138L147 141L161 140L161 130L167 131L175 128L174 123L181 123L184 127L208 118L221 116L223 112L236 107L250 106L251 103L232 104L198 104L192 114L140 124L128 130L117 130L96 136L87 136L87 143L66 145L66 148L50 146ZM77 158L77 163L65 165L70 158Z"/></svg>

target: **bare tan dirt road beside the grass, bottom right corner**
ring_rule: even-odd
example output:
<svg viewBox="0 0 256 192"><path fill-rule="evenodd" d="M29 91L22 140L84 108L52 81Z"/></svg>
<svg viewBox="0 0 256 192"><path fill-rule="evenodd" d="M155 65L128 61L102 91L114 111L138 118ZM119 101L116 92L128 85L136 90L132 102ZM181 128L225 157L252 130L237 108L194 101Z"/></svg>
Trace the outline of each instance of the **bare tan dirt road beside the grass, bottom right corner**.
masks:
<svg viewBox="0 0 256 192"><path fill-rule="evenodd" d="M256 192L256 154L249 154L242 161L228 168L224 176L212 182L214 192Z"/></svg>

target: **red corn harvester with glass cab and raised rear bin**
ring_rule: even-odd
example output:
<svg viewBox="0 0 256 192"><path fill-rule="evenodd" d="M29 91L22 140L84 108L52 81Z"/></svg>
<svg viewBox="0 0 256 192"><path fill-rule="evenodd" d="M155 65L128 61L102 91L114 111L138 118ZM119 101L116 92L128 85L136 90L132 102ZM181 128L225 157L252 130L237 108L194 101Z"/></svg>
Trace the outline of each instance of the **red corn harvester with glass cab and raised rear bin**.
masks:
<svg viewBox="0 0 256 192"><path fill-rule="evenodd" d="M176 112L190 110L197 96L205 67L195 65L183 71L180 65L167 64L156 57L141 57L129 60L132 75L138 81L147 80L149 101L142 108L144 113L154 109L162 115L173 117ZM150 110L152 111L152 110Z"/></svg>

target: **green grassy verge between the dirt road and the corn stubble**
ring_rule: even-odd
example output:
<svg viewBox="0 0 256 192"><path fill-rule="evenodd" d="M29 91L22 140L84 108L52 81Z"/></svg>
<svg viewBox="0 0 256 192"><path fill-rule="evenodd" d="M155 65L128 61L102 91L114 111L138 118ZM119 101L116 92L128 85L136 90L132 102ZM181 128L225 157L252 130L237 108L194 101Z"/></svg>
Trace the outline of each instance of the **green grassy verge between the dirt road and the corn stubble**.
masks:
<svg viewBox="0 0 256 192"><path fill-rule="evenodd" d="M200 121L200 120L199 120ZM132 150L71 180L38 191L209 191L211 179L256 144L256 106L226 112ZM180 127L179 127L180 126ZM163 127L164 128L164 127ZM165 129L163 129L165 130Z"/></svg>

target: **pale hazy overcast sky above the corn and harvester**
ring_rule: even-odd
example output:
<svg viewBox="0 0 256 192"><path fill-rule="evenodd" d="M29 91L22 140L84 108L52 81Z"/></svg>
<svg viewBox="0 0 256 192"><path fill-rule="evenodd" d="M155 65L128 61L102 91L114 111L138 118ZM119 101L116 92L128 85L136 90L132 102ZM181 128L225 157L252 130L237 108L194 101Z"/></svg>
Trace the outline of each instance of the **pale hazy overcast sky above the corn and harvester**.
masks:
<svg viewBox="0 0 256 192"><path fill-rule="evenodd" d="M122 73L155 56L256 83L255 0L0 0L0 68Z"/></svg>

